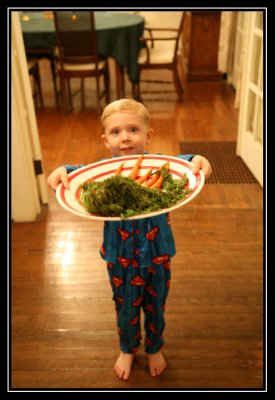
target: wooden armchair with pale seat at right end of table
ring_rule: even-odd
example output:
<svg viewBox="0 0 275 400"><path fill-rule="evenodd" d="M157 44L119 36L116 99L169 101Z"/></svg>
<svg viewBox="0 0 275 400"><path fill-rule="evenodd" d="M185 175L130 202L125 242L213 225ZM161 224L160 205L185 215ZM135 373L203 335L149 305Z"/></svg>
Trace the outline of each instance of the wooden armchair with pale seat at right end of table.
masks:
<svg viewBox="0 0 275 400"><path fill-rule="evenodd" d="M138 58L138 83L132 85L133 97L140 100L140 83L149 82L157 84L173 83L178 99L183 99L183 87L178 73L178 61L181 43L181 34L184 25L185 13L181 12L179 23L177 27L164 27L156 28L150 26L150 21L146 23L146 12L143 13L145 17L144 36L140 39L144 43L144 48L141 49ZM173 26L173 25L172 25ZM144 70L157 70L166 69L172 71L173 80L141 80L141 73ZM171 90L160 91L157 93L168 93ZM174 91L173 91L174 92ZM156 93L156 91L154 91Z"/></svg>

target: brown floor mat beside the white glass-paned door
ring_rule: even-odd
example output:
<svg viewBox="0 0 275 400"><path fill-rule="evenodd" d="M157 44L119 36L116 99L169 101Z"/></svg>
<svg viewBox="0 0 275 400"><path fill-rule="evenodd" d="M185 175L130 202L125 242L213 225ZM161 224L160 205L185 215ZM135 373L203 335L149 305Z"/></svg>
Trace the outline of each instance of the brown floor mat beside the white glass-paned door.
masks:
<svg viewBox="0 0 275 400"><path fill-rule="evenodd" d="M257 183L241 157L236 155L236 142L183 142L181 154L200 154L212 165L206 183Z"/></svg>

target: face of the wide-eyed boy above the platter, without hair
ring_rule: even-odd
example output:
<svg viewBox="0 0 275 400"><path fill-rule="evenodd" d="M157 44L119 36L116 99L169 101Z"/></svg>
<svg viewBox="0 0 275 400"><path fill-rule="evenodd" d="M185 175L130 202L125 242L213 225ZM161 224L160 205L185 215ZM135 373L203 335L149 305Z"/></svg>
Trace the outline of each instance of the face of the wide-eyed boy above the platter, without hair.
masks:
<svg viewBox="0 0 275 400"><path fill-rule="evenodd" d="M153 130L136 114L115 113L104 121L102 139L114 157L142 154Z"/></svg>

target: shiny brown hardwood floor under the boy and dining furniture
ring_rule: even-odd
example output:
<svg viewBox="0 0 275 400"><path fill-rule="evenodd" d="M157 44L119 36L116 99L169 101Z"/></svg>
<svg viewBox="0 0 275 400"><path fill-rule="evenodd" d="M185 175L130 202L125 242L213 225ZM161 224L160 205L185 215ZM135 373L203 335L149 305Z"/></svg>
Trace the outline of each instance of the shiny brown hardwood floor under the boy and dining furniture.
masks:
<svg viewBox="0 0 275 400"><path fill-rule="evenodd" d="M46 62L42 71L45 110L37 109L37 121L46 175L63 163L109 156L93 99L86 110L75 102L62 115ZM176 155L181 141L236 140L238 111L225 82L188 83L181 104L173 94L145 97L156 131L150 152ZM67 213L50 192L36 222L12 225L11 388L263 388L262 195L258 184L206 184L171 214L177 254L164 333L168 368L151 378L142 347L131 379L121 382L113 372L114 304L98 253L102 224Z"/></svg>

